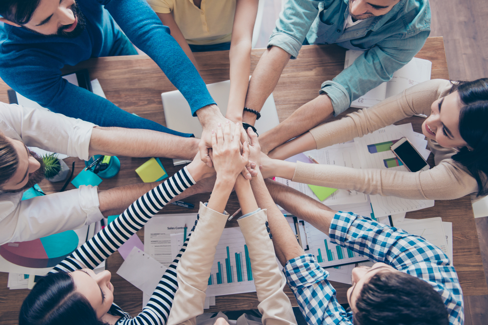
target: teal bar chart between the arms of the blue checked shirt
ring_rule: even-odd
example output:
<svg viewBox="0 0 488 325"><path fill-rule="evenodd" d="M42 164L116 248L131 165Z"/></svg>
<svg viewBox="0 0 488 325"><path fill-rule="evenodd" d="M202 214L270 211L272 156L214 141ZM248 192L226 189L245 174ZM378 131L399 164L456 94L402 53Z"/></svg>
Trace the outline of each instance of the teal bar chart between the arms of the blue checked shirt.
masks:
<svg viewBox="0 0 488 325"><path fill-rule="evenodd" d="M305 253L314 254L320 266L329 268L367 260L351 249L331 243L325 233L306 222L304 228L311 250Z"/></svg>

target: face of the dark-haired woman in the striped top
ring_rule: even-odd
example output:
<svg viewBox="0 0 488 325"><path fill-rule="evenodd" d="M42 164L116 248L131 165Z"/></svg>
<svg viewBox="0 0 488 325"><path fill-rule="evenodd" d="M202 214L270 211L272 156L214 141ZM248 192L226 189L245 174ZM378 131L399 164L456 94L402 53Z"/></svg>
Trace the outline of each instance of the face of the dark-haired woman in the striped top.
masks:
<svg viewBox="0 0 488 325"><path fill-rule="evenodd" d="M83 268L70 273L77 292L80 292L97 313L97 318L102 318L114 302L114 287L110 283L112 274L110 271L102 271L95 274L89 268Z"/></svg>

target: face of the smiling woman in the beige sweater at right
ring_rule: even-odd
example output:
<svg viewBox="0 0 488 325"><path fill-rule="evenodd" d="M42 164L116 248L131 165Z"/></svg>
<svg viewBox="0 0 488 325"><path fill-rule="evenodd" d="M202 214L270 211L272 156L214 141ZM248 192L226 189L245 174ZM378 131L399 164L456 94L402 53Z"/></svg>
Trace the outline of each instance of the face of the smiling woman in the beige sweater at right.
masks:
<svg viewBox="0 0 488 325"><path fill-rule="evenodd" d="M422 133L445 148L465 147L468 144L459 133L461 101L458 92L434 101L432 113L422 124Z"/></svg>

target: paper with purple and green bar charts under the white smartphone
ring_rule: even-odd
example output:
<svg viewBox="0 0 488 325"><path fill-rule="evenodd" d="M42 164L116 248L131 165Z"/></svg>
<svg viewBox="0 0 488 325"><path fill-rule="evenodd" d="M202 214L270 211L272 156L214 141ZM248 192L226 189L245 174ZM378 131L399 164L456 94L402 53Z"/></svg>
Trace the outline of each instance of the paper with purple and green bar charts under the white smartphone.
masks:
<svg viewBox="0 0 488 325"><path fill-rule="evenodd" d="M354 143L361 160L361 168L408 172L407 168L400 164L395 154L389 149L389 146L405 136L419 152L425 150L425 147L418 147L418 141L413 138L414 135L409 132L406 134L405 130L407 129L404 126L390 125L363 137L355 138ZM369 195L369 199L376 218L434 206L434 200L410 200L395 196L381 196L379 194Z"/></svg>

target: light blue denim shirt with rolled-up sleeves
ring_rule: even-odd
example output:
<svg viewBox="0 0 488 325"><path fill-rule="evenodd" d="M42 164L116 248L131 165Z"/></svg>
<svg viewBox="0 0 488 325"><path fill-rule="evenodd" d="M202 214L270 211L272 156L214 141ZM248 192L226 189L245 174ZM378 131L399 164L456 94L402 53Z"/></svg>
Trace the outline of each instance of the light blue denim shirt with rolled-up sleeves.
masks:
<svg viewBox="0 0 488 325"><path fill-rule="evenodd" d="M349 0L287 0L269 37L292 58L305 40L310 44L336 43L346 49L365 51L333 80L322 83L334 115L366 94L407 64L424 46L430 33L428 0L400 0L386 15L371 17L344 30Z"/></svg>

